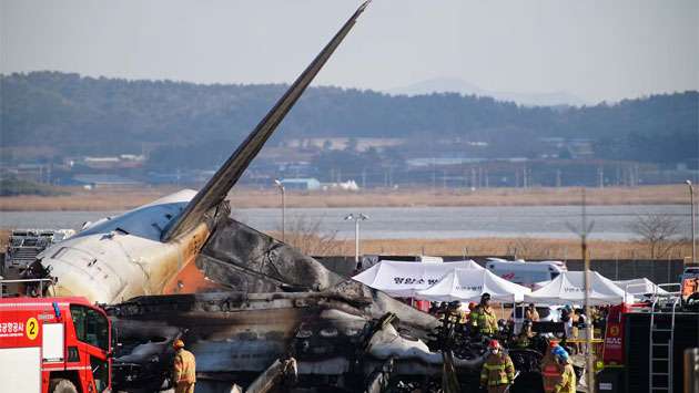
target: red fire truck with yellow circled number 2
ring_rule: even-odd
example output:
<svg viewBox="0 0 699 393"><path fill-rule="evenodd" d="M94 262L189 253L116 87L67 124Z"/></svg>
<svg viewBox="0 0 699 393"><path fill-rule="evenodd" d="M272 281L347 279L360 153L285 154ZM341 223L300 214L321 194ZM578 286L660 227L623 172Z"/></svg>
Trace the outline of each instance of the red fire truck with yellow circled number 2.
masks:
<svg viewBox="0 0 699 393"><path fill-rule="evenodd" d="M2 392L111 391L111 322L84 298L0 299Z"/></svg>

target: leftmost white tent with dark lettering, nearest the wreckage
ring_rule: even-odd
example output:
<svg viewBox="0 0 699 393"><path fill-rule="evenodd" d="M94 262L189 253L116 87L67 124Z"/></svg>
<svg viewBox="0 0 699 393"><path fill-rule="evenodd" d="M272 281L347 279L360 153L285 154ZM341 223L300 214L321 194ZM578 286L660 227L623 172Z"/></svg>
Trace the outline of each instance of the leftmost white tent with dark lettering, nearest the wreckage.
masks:
<svg viewBox="0 0 699 393"><path fill-rule="evenodd" d="M353 279L393 297L413 298L417 291L427 289L454 269L484 270L473 260L444 263L382 260Z"/></svg>

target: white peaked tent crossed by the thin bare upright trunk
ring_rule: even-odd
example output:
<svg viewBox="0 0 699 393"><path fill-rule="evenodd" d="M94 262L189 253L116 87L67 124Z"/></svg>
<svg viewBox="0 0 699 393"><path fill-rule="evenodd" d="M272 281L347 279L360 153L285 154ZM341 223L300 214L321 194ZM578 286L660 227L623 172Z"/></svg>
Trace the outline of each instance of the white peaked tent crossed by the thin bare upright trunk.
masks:
<svg viewBox="0 0 699 393"><path fill-rule="evenodd" d="M624 302L624 290L614 281L596 271L590 271L590 306L618 304ZM631 297L632 298L632 297ZM585 303L585 281L582 271L565 271L545 287L525 294L526 302L566 304ZM631 301L627 297L627 301Z"/></svg>

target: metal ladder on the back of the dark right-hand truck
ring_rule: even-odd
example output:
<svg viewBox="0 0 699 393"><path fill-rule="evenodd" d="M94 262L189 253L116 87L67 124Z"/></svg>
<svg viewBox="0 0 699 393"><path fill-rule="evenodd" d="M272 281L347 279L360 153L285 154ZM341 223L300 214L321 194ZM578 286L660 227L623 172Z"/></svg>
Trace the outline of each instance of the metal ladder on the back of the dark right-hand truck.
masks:
<svg viewBox="0 0 699 393"><path fill-rule="evenodd" d="M658 300L672 296L671 313L662 310L667 303ZM675 342L675 311L681 297L670 292L656 294L650 308L650 340L648 353L648 390L672 393L672 344Z"/></svg>

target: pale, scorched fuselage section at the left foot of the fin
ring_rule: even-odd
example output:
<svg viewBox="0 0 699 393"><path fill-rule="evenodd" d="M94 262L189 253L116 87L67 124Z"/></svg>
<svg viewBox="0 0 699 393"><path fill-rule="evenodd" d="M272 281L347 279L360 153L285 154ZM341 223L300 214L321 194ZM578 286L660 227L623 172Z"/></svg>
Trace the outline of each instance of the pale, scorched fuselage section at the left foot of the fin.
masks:
<svg viewBox="0 0 699 393"><path fill-rule="evenodd" d="M163 293L191 262L210 231L202 223L168 242L160 237L195 195L181 190L120 216L103 218L41 252L43 267L58 278L57 296L82 296L114 303Z"/></svg>

